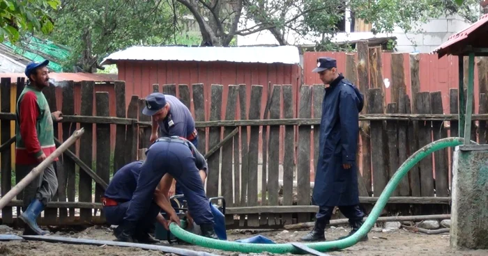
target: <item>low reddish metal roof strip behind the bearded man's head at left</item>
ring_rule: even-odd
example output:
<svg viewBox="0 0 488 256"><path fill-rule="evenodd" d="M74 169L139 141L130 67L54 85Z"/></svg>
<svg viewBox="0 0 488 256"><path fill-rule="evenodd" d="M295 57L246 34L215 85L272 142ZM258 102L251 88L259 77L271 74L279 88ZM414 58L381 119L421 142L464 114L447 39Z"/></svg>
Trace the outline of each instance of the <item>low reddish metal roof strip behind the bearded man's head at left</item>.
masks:
<svg viewBox="0 0 488 256"><path fill-rule="evenodd" d="M0 73L0 77L10 77L11 81L17 81L17 77L26 77L24 73ZM91 73L49 73L49 78L54 81L116 81L117 74L91 74Z"/></svg>

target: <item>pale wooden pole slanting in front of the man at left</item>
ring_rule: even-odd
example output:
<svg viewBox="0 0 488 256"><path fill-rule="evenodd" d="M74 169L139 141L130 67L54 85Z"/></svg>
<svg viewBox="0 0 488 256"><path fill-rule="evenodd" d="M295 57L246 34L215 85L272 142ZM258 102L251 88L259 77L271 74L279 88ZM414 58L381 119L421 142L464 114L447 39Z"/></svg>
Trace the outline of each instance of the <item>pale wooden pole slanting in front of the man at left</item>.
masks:
<svg viewBox="0 0 488 256"><path fill-rule="evenodd" d="M33 168L31 172L26 175L26 177L24 177L24 179L22 179L19 183L17 183L12 189L10 189L10 191L8 191L6 195L3 195L3 197L0 199L0 209L3 209L3 207L5 207L8 202L10 202L15 197L15 195L20 193L20 191L22 191L25 186L31 183L36 176L40 175L40 173L43 173L45 168L47 168L47 166L49 166L49 164L51 164L56 157L59 157L66 149L68 149L70 145L75 143L75 141L77 141L77 139L81 137L83 133L83 128L75 131L73 135L71 135L68 140L66 140L63 144L61 144L61 146L54 150L54 152L52 152L49 157L44 159L44 161L36 166L36 168Z"/></svg>

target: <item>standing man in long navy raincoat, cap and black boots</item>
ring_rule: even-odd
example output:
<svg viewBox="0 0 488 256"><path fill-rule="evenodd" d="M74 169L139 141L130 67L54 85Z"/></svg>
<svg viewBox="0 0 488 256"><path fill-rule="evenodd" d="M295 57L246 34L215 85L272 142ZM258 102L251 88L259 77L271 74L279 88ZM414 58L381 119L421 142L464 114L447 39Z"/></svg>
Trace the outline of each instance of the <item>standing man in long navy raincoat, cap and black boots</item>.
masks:
<svg viewBox="0 0 488 256"><path fill-rule="evenodd" d="M322 102L319 161L312 195L319 212L314 229L302 240L324 241L326 225L336 206L349 218L352 227L346 237L363 225L365 214L359 207L356 152L359 113L363 109L364 99L358 88L337 72L334 58L317 59L317 68L312 72L319 73L326 90ZM365 240L367 236L362 239Z"/></svg>

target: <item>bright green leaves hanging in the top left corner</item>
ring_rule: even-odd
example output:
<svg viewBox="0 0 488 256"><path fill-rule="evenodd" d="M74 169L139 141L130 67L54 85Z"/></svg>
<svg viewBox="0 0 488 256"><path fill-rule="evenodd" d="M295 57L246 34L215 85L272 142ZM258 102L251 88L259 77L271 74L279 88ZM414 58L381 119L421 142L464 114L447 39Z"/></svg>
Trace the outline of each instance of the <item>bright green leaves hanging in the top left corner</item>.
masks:
<svg viewBox="0 0 488 256"><path fill-rule="evenodd" d="M54 26L48 10L56 10L60 0L0 0L0 42L17 42L22 33L50 33Z"/></svg>

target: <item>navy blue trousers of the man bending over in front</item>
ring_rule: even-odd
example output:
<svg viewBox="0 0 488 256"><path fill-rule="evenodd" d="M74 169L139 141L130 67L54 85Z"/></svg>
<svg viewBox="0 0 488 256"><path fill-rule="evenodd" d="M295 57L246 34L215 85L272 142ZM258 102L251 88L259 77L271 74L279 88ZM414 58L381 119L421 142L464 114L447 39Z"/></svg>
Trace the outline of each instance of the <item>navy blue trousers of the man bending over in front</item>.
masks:
<svg viewBox="0 0 488 256"><path fill-rule="evenodd" d="M213 215L195 165L195 157L188 145L178 141L158 141L148 149L124 221L134 223L144 216L156 186L166 173L181 185L195 223L213 225Z"/></svg>

